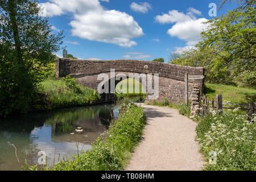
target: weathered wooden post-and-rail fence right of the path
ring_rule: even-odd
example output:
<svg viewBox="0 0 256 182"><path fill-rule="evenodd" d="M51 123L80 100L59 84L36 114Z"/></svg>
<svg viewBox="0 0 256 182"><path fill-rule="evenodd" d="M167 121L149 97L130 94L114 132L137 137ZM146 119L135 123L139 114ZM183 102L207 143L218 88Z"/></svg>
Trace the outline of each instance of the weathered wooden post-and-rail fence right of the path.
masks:
<svg viewBox="0 0 256 182"><path fill-rule="evenodd" d="M237 109L235 106L238 106L238 109L240 110L247 110L248 118L251 118L251 116L254 114L254 102L248 102L247 104L222 102L222 95L216 95L216 100L208 100L207 96L200 96L199 98L199 108L203 108L203 114L205 113L205 110L209 108L216 108L218 113L222 113L223 109Z"/></svg>

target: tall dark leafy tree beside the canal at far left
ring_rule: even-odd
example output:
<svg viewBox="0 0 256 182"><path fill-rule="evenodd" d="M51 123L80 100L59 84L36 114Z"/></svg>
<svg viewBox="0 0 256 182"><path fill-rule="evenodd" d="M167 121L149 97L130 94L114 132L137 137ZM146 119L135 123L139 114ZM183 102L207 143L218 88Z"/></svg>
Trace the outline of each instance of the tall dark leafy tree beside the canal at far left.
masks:
<svg viewBox="0 0 256 182"><path fill-rule="evenodd" d="M30 109L41 68L62 44L40 11L34 0L0 0L0 115Z"/></svg>

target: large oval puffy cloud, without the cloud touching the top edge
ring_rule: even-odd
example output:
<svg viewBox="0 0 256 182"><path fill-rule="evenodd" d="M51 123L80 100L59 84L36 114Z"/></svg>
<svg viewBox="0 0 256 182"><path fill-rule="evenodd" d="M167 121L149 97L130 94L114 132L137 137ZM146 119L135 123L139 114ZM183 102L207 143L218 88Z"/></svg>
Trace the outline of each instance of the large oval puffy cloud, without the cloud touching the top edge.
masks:
<svg viewBox="0 0 256 182"><path fill-rule="evenodd" d="M137 45L131 39L144 35L133 16L117 10L75 15L75 20L70 24L73 27L72 35L122 47Z"/></svg>

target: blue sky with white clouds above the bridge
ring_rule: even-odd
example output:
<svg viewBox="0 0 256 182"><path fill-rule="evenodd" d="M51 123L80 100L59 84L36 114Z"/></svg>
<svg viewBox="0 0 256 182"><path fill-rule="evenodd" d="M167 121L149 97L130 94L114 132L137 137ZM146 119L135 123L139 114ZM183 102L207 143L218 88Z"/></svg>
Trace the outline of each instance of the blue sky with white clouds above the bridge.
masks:
<svg viewBox="0 0 256 182"><path fill-rule="evenodd" d="M63 47L79 59L163 57L192 48L220 0L47 0L39 1L52 31L64 30ZM217 10L217 16L236 3ZM56 52L62 55L62 50Z"/></svg>

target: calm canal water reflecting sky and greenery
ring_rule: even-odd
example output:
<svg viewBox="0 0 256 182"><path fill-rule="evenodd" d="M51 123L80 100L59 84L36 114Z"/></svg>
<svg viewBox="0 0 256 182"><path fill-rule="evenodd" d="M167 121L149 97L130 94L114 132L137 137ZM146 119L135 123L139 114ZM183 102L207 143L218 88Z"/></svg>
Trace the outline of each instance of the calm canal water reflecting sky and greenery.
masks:
<svg viewBox="0 0 256 182"><path fill-rule="evenodd" d="M114 109L113 109L114 108ZM0 170L19 170L25 159L38 164L38 152L44 151L47 163L71 159L79 151L88 150L91 142L103 133L118 108L112 105L74 107L43 114L19 115L0 120ZM81 132L77 132L81 128ZM71 133L75 133L71 135ZM8 143L9 142L9 143Z"/></svg>

